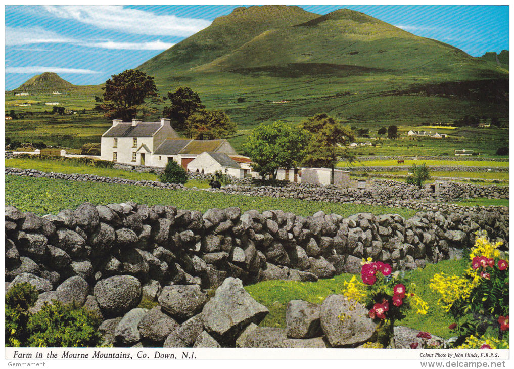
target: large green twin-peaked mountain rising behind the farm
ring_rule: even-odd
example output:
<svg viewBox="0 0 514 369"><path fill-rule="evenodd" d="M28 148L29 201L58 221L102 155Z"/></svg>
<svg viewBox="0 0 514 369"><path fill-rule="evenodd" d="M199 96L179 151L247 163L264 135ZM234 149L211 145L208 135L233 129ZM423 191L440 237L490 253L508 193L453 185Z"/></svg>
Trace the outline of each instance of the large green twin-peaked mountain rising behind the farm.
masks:
<svg viewBox="0 0 514 369"><path fill-rule="evenodd" d="M193 88L242 130L320 112L356 127L508 120L504 64L348 9L237 8L138 68L161 94Z"/></svg>

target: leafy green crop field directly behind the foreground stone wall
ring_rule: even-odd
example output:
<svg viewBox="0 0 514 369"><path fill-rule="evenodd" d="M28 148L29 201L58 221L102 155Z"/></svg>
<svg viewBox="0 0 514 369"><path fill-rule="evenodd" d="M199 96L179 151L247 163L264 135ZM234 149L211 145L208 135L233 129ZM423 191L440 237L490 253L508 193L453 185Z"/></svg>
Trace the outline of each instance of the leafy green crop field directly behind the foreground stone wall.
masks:
<svg viewBox="0 0 514 369"><path fill-rule="evenodd" d="M132 185L110 183L75 182L61 179L5 176L5 203L22 211L37 214L57 214L62 209L75 209L85 201L98 204L135 201L147 205L174 205L178 209L205 212L213 207L236 206L242 211L260 212L280 209L302 216L310 216L319 210L344 217L361 212L374 214L399 214L412 217L416 211L410 209L367 206L360 204L337 204L336 202L306 201L245 195L227 195L207 191L181 191L152 189Z"/></svg>

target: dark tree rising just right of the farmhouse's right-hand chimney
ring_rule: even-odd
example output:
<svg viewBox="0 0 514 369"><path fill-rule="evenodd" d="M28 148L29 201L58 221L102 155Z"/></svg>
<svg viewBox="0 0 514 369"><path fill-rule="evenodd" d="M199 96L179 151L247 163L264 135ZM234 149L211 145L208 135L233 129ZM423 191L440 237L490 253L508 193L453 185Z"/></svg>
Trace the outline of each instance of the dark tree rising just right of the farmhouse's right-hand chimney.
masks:
<svg viewBox="0 0 514 369"><path fill-rule="evenodd" d="M198 94L189 87L178 87L174 92L168 93L168 98L171 105L164 107L162 114L175 121L173 128L177 131L186 131L186 119L205 108Z"/></svg>

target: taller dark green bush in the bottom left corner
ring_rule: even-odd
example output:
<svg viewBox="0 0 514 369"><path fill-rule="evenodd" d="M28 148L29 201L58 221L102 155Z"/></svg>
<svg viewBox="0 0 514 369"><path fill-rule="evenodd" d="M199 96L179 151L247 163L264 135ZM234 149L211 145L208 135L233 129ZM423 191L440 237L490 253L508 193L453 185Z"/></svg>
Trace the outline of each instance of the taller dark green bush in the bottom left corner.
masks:
<svg viewBox="0 0 514 369"><path fill-rule="evenodd" d="M5 296L5 344L25 346L28 338L29 307L38 300L38 291L27 282L13 286Z"/></svg>

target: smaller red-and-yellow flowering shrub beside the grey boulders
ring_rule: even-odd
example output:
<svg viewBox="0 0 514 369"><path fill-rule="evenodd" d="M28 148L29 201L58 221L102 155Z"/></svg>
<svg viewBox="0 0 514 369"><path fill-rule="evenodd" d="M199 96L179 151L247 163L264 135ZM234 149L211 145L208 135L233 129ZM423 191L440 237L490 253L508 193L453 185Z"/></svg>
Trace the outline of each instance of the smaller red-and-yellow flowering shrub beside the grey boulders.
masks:
<svg viewBox="0 0 514 369"><path fill-rule="evenodd" d="M353 276L345 283L344 294L365 304L370 318L379 323L379 342L394 348L394 322L405 318L410 309L426 314L428 305L413 292L414 284L407 288L401 283L400 273L392 271L391 265L370 258L362 263L362 283Z"/></svg>

